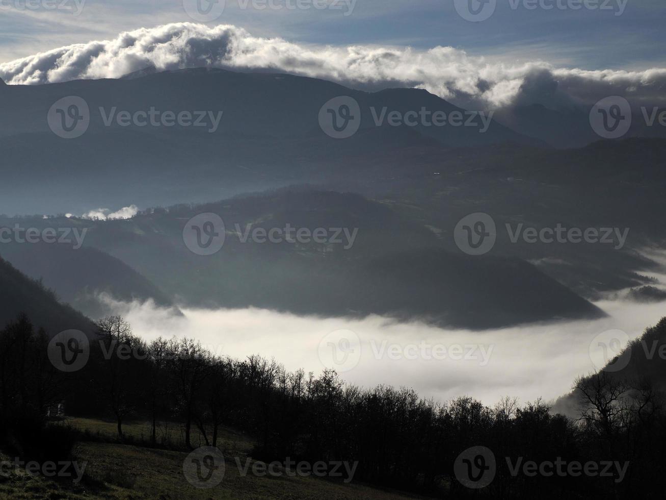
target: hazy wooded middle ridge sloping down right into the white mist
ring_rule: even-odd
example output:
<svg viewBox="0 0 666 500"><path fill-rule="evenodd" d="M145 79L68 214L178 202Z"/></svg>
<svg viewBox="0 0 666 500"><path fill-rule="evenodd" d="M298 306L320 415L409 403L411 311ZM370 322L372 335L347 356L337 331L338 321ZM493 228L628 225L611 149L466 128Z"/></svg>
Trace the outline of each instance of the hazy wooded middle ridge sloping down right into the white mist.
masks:
<svg viewBox="0 0 666 500"><path fill-rule="evenodd" d="M214 255L184 244L183 229L199 213L224 221L224 245ZM285 189L91 223L85 245L105 249L183 305L382 314L474 328L603 315L528 263L448 252L431 229L351 193ZM250 231L287 225L332 238L336 228L347 233L338 233L340 242L243 241Z"/></svg>

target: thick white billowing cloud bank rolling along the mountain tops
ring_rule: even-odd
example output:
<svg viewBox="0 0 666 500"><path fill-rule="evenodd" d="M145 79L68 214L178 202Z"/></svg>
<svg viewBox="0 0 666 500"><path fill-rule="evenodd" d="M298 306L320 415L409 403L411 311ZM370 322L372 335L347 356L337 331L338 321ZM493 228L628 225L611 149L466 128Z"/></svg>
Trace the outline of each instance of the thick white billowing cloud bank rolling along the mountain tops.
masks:
<svg viewBox="0 0 666 500"><path fill-rule="evenodd" d="M106 41L69 45L0 64L0 78L34 85L73 79L118 78L155 66L271 69L337 81L357 88L409 86L466 107L501 107L519 101L557 105L594 103L623 95L659 104L666 69L586 71L545 61L510 64L453 47L308 45L254 37L233 25L171 23L121 33Z"/></svg>

